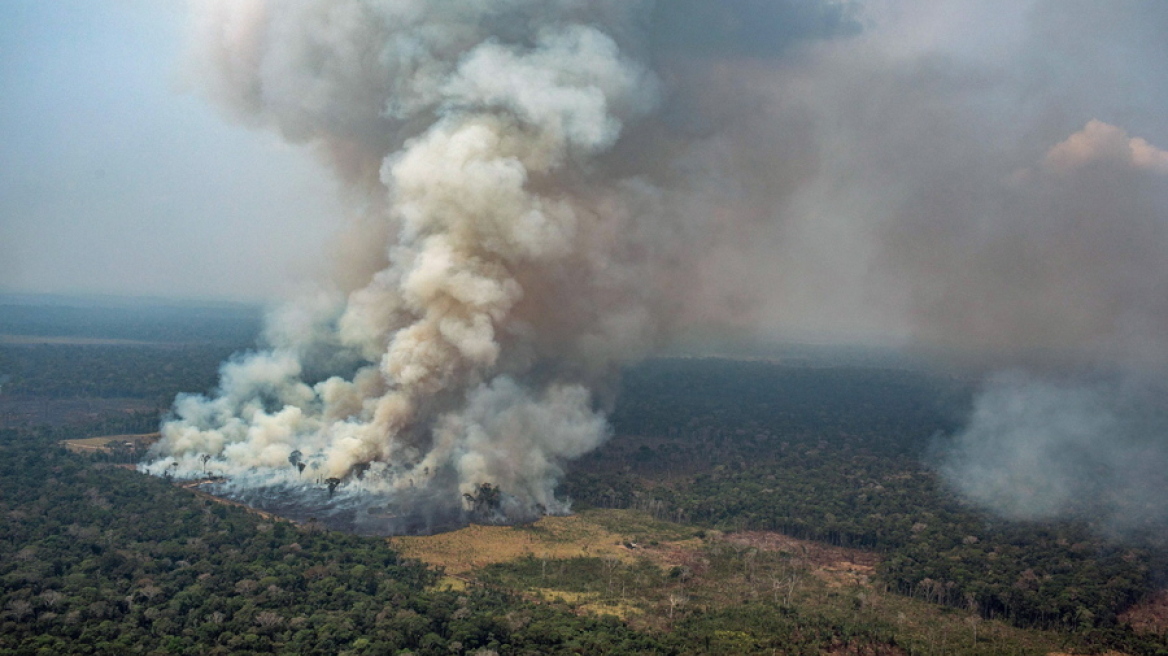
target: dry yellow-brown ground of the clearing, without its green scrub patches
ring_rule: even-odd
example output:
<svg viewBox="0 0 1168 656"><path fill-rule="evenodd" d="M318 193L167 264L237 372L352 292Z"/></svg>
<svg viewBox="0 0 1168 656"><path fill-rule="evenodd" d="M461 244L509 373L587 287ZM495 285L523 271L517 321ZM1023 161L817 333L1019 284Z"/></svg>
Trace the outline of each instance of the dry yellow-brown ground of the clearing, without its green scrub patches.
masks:
<svg viewBox="0 0 1168 656"><path fill-rule="evenodd" d="M1064 656L1059 649L1066 643L1057 633L1020 629L884 589L874 577L880 557L871 552L766 531L707 530L701 539L697 535L696 528L659 522L646 512L586 510L526 526L472 525L391 542L408 558L444 567L439 586L452 589L477 585L475 572L482 567L524 557L596 557L625 566L649 560L665 578L644 587L559 589L541 578L516 581L514 589L526 599L563 605L576 613L616 615L640 629L668 631L675 615L776 603L829 621L883 622L909 648L889 647L884 654L946 654L976 642L982 652ZM670 573L677 570L684 575ZM750 638L742 631L716 633L723 645Z"/></svg>

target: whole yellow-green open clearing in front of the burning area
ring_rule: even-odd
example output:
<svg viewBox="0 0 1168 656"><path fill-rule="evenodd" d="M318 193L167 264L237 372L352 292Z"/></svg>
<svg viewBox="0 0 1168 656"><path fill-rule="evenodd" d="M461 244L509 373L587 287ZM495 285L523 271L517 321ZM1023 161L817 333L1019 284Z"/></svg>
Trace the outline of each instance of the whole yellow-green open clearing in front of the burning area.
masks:
<svg viewBox="0 0 1168 656"><path fill-rule="evenodd" d="M586 510L391 543L403 556L443 567L445 587L512 589L654 631L704 627L704 635L715 636L709 654L770 654L770 645L787 640L784 630L798 633L800 626L877 627L869 635L877 641L872 654L1069 652L1065 636L1054 631L888 592L876 581L874 552L776 532L723 535L639 511ZM869 652L853 648L826 652Z"/></svg>

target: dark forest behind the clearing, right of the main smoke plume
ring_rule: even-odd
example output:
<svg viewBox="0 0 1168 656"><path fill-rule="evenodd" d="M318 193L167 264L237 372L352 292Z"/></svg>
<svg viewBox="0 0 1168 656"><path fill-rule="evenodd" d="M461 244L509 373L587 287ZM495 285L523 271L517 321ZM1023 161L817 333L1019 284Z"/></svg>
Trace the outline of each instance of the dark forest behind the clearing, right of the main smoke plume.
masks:
<svg viewBox="0 0 1168 656"><path fill-rule="evenodd" d="M891 589L1113 641L1131 637L1118 613L1163 571L1155 551L1085 523L1008 523L945 489L922 459L968 403L960 381L666 361L624 390L618 437L563 487L577 503L877 550Z"/></svg>

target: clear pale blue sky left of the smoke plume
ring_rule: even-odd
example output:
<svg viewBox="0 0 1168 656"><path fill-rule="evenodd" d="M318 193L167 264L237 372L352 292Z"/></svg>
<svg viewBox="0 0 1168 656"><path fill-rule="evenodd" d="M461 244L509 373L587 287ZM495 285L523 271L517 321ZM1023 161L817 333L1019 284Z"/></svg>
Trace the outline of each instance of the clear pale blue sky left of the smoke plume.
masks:
<svg viewBox="0 0 1168 656"><path fill-rule="evenodd" d="M260 299L319 266L329 174L183 79L186 4L0 4L0 291Z"/></svg>

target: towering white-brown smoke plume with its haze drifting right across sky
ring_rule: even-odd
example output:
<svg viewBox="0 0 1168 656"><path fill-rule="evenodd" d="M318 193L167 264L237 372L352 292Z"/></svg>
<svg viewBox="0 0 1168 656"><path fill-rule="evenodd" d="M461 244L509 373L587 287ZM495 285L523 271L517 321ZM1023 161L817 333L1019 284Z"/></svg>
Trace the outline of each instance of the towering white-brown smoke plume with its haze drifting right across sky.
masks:
<svg viewBox="0 0 1168 656"><path fill-rule="evenodd" d="M211 398L176 400L148 472L426 530L481 512L484 483L496 518L565 510L555 482L606 439L619 367L694 326L1168 361L1168 5L202 0L194 15L200 85L318 152L352 211L333 286L273 313L269 348L225 364ZM1050 396L1030 384L1001 389ZM1034 424L980 417L966 441ZM965 484L994 480L982 455L944 470L1021 516L1001 501L1017 476ZM388 519L411 512L430 515Z"/></svg>

